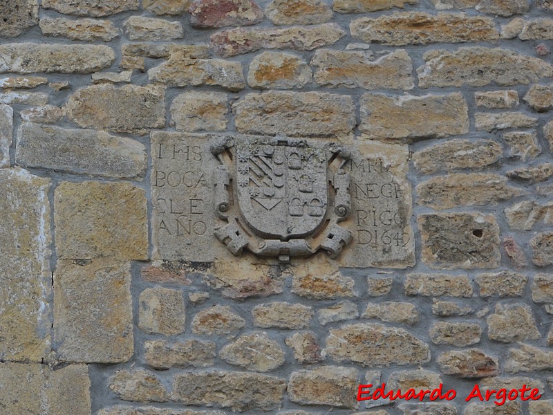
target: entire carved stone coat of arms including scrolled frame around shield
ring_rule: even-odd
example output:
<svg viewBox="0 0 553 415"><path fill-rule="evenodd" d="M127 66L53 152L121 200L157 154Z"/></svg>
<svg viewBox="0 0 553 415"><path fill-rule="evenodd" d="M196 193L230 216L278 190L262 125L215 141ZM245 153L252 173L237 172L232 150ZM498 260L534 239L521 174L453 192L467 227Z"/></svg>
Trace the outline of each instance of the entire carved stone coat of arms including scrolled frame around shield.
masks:
<svg viewBox="0 0 553 415"><path fill-rule="evenodd" d="M352 239L339 225L350 213L348 151L316 140L235 136L212 147L217 239L234 255L337 257Z"/></svg>

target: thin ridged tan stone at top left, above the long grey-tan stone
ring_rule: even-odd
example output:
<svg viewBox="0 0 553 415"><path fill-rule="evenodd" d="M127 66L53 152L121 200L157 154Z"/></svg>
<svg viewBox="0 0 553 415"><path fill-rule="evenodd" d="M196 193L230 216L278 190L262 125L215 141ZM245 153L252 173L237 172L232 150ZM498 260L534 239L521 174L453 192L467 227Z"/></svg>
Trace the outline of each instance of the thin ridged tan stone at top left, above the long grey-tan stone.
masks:
<svg viewBox="0 0 553 415"><path fill-rule="evenodd" d="M67 37L71 40L109 42L119 36L119 30L109 20L43 17L40 19L40 30L45 36Z"/></svg>

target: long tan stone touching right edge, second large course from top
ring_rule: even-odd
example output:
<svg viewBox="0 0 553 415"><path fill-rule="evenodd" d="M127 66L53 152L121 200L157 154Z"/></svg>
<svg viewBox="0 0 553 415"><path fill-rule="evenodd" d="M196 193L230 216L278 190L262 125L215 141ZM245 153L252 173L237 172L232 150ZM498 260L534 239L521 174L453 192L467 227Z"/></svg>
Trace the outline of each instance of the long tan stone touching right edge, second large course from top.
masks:
<svg viewBox="0 0 553 415"><path fill-rule="evenodd" d="M529 84L552 77L553 66L542 59L501 48L474 46L424 53L426 64L417 69L419 86L499 86Z"/></svg>

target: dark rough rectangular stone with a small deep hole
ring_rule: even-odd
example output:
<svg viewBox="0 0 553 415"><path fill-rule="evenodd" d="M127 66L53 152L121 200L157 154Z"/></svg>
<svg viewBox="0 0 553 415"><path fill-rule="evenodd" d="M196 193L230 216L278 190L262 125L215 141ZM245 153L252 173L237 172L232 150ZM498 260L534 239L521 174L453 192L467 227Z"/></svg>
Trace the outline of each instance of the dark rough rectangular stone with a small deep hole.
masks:
<svg viewBox="0 0 553 415"><path fill-rule="evenodd" d="M418 216L422 261L433 269L496 268L499 226L493 215L479 213Z"/></svg>

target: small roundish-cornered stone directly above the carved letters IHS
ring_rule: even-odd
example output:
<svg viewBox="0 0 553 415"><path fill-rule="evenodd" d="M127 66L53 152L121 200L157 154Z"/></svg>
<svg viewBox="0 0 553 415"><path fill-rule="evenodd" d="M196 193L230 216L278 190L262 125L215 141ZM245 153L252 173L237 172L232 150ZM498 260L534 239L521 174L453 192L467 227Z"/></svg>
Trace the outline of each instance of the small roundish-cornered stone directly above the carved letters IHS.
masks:
<svg viewBox="0 0 553 415"><path fill-rule="evenodd" d="M223 131L227 128L227 94L191 91L171 103L171 123L182 131Z"/></svg>

